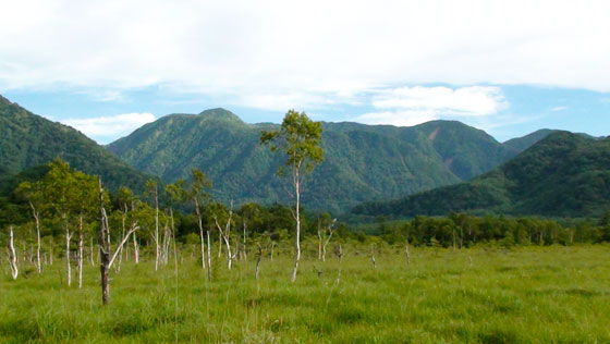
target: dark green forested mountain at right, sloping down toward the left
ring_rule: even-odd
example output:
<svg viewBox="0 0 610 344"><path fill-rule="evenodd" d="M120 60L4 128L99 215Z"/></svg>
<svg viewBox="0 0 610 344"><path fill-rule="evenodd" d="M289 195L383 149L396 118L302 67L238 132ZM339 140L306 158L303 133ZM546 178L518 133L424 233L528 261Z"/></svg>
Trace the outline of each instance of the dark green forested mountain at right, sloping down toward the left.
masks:
<svg viewBox="0 0 610 344"><path fill-rule="evenodd" d="M474 213L599 217L610 208L610 137L556 131L469 182L392 201L366 202L369 216Z"/></svg>

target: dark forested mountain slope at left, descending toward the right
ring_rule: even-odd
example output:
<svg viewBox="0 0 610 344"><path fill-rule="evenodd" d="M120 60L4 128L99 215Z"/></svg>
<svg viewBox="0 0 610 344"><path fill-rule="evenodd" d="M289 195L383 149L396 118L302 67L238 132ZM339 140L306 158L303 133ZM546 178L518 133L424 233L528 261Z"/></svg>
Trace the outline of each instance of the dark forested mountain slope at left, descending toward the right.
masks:
<svg viewBox="0 0 610 344"><path fill-rule="evenodd" d="M110 188L143 189L149 177L78 131L36 115L0 96L0 183L7 189L17 173L61 158L76 170L97 174ZM38 173L26 172L25 174Z"/></svg>

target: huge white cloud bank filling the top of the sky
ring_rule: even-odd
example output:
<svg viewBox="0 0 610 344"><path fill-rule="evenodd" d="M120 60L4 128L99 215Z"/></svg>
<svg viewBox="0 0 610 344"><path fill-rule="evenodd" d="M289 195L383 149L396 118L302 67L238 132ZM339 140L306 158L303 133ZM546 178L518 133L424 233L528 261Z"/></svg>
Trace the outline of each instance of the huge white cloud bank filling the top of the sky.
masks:
<svg viewBox="0 0 610 344"><path fill-rule="evenodd" d="M610 91L606 1L0 0L0 91L172 85L282 110L390 85ZM449 106L460 108L455 101Z"/></svg>

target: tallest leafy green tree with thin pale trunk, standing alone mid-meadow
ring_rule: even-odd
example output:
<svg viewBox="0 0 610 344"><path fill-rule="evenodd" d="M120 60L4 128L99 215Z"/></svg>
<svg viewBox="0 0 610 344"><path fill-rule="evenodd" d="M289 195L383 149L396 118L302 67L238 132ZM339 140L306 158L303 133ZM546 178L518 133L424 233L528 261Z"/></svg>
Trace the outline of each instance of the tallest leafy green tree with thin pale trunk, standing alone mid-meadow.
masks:
<svg viewBox="0 0 610 344"><path fill-rule="evenodd" d="M260 144L269 145L271 151L281 150L285 157L284 167L279 174L289 170L294 186L294 219L296 221L296 257L291 281L296 279L298 261L301 259L301 186L303 176L312 172L317 163L324 160L324 150L320 146L322 127L320 122L314 122L305 112L289 110L279 131L260 133Z"/></svg>

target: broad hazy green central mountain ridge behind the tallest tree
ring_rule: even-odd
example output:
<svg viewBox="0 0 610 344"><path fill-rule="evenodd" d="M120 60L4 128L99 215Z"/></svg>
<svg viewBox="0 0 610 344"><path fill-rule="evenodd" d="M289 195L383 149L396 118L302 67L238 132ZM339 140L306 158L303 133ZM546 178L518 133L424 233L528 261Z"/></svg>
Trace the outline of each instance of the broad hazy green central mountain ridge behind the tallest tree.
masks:
<svg viewBox="0 0 610 344"><path fill-rule="evenodd" d="M166 182L206 172L217 199L286 201L290 189L276 171L280 155L259 146L261 130L224 109L170 114L107 148L138 170ZM308 177L307 208L347 210L366 200L395 198L454 184L489 171L517 153L483 131L460 122L412 127L322 123L325 161Z"/></svg>

